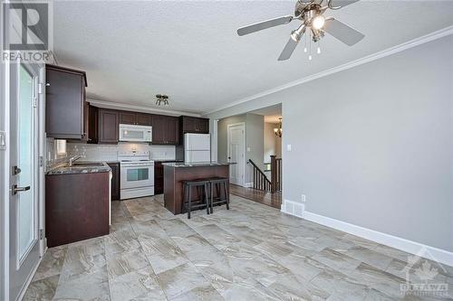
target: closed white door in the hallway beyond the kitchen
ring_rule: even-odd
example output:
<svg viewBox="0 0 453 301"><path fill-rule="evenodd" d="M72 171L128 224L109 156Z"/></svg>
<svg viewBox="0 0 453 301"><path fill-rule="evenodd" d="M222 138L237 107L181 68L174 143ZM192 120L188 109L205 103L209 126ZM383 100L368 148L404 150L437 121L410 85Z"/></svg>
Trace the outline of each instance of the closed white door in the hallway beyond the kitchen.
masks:
<svg viewBox="0 0 453 301"><path fill-rule="evenodd" d="M246 134L244 124L228 126L228 162L236 163L230 165L230 182L236 185L244 185L246 165Z"/></svg>

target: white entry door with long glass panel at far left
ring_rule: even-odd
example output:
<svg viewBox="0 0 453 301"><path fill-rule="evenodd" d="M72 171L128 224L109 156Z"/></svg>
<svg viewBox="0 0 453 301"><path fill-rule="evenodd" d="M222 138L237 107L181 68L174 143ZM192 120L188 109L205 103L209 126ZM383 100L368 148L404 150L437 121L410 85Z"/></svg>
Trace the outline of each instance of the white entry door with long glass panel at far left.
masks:
<svg viewBox="0 0 453 301"><path fill-rule="evenodd" d="M11 66L10 299L24 293L39 264L38 81L32 65Z"/></svg>

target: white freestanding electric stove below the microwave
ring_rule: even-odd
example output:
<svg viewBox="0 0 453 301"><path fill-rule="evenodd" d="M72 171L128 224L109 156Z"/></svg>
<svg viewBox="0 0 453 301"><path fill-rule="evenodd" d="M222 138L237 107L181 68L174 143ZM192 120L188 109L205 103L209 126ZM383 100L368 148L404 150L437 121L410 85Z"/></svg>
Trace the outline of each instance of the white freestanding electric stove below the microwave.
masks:
<svg viewBox="0 0 453 301"><path fill-rule="evenodd" d="M118 152L120 199L154 195L154 161L149 152Z"/></svg>

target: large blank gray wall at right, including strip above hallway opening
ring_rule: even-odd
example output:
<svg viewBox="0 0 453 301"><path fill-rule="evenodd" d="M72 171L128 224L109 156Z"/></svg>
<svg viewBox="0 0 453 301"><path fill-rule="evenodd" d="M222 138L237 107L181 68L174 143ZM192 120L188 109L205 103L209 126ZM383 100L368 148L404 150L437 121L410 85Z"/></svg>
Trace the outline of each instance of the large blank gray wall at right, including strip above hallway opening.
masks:
<svg viewBox="0 0 453 301"><path fill-rule="evenodd" d="M451 49L450 35L210 116L284 99L284 199L453 251Z"/></svg>

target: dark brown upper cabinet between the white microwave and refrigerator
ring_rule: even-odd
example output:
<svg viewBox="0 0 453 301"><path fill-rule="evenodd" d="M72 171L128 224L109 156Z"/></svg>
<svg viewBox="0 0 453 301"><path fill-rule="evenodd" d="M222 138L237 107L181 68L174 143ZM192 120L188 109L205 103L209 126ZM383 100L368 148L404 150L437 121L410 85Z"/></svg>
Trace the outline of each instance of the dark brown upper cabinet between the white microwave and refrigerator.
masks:
<svg viewBox="0 0 453 301"><path fill-rule="evenodd" d="M177 117L153 116L152 144L169 146L177 146L179 144L179 120Z"/></svg>

